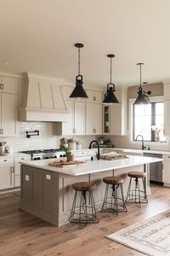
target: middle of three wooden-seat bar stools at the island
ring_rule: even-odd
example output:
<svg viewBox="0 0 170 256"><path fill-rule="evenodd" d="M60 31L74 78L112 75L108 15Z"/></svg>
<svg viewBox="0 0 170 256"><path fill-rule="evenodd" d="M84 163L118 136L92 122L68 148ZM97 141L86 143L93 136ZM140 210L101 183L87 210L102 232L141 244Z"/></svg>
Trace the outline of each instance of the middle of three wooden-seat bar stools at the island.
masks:
<svg viewBox="0 0 170 256"><path fill-rule="evenodd" d="M104 177L103 182L106 183L105 198L103 201L102 211L115 212L127 212L127 207L124 201L122 183L124 179L122 177ZM108 197L109 186L111 185L111 196ZM121 195L118 196L118 188L121 189Z"/></svg>

